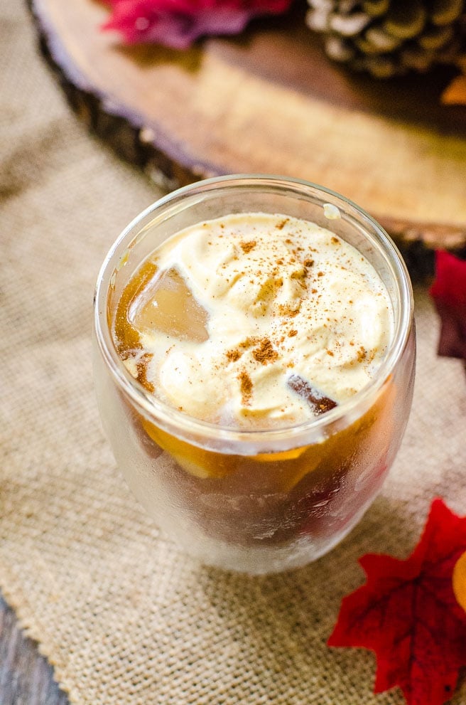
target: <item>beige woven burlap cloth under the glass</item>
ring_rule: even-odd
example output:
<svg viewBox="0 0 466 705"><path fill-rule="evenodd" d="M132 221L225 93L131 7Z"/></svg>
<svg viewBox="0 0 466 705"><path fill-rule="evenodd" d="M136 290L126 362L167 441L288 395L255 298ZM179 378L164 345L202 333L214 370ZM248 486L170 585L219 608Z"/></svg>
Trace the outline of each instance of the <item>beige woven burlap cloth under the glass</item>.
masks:
<svg viewBox="0 0 466 705"><path fill-rule="evenodd" d="M435 496L466 513L465 376L435 356L426 292L403 447L343 544L261 578L179 553L116 470L90 362L100 262L158 192L77 124L18 5L0 10L1 590L73 704L401 704L372 695L370 652L325 642L359 556L407 556Z"/></svg>

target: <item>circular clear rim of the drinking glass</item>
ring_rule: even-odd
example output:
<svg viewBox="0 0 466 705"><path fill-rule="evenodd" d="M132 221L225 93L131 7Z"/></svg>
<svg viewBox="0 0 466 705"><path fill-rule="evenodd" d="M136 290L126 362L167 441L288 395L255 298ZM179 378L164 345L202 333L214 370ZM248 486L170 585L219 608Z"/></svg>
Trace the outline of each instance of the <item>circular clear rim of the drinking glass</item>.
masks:
<svg viewBox="0 0 466 705"><path fill-rule="evenodd" d="M266 191L293 189L295 187L296 194L299 192L305 196L305 190L317 191L319 194L328 196L334 203L337 201L342 208L350 208L356 212L359 217L360 224L364 226L365 234L369 236L372 243L379 246L379 250L384 255L386 263L390 267L391 276L396 282L396 288L399 295L399 316L394 321L394 333L386 352L381 366L376 371L375 376L357 393L346 401L337 405L334 409L327 413L309 418L293 425L279 426L278 428L259 428L259 429L244 429L235 428L227 425L220 425L202 419L195 418L180 411L168 403L161 401L151 394L146 388L141 385L126 369L121 358L114 346L112 333L108 325L107 319L107 303L108 294L111 284L112 275L118 270L118 264L121 265L121 260L124 258L124 253L128 250L130 244L136 244L141 239L141 234L148 216L156 216L158 211L163 211L166 206L175 205L175 203L183 201L186 196L195 196L205 192L215 192L222 190L225 187L242 187L243 189L266 187ZM308 193L309 195L309 193ZM335 205L338 205L335 203ZM365 221L365 223L364 223ZM368 227L372 228L372 233L367 232ZM131 236L131 237L130 237ZM375 236L375 237L374 237ZM257 442L261 445L265 441L281 442L283 440L290 441L291 445L305 445L305 437L310 433L322 431L326 426L335 423L340 418L346 415L351 415L354 410L364 405L364 401L372 398L381 386L385 383L391 372L394 370L397 361L401 357L403 350L406 347L408 337L411 332L413 320L413 290L411 280L408 275L408 269L404 262L399 249L388 233L372 216L364 211L363 208L351 201L349 198L342 196L337 191L327 189L320 184L314 184L305 179L295 179L289 176L275 176L269 174L230 174L225 176L214 176L210 179L202 179L195 181L193 184L182 186L180 189L171 191L169 194L158 198L151 203L150 206L141 211L133 220L121 231L120 235L114 241L113 245L107 252L106 257L100 267L97 275L97 282L94 290L94 334L97 338L100 354L102 354L107 369L112 374L112 378L117 386L133 401L136 406L143 410L152 418L156 425L168 430L169 433L178 435L183 439L193 441L193 438L211 440L215 442L233 442L237 444L251 443L251 446L256 446ZM242 455L244 452L238 451ZM256 451L253 451L256 452Z"/></svg>

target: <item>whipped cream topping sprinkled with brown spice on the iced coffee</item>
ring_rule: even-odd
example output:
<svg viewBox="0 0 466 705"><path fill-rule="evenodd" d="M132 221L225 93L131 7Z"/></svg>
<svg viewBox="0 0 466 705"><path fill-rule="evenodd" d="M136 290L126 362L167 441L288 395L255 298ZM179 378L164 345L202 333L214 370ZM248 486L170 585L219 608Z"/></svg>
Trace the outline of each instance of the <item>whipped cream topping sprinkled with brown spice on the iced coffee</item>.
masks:
<svg viewBox="0 0 466 705"><path fill-rule="evenodd" d="M357 393L384 359L386 288L361 253L315 223L232 214L183 230L151 260L154 292L157 277L163 286L175 272L192 294L189 307L178 300L188 320L151 329L147 309L161 299L148 287L131 307L140 347L125 364L137 376L143 360L156 396L191 416L238 428L300 423Z"/></svg>

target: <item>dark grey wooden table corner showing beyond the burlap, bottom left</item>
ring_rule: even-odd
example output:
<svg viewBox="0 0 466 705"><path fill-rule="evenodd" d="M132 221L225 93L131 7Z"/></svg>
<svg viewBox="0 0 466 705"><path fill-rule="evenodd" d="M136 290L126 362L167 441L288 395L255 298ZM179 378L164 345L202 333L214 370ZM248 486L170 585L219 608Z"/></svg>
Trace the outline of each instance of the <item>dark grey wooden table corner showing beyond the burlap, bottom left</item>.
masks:
<svg viewBox="0 0 466 705"><path fill-rule="evenodd" d="M0 705L68 705L53 669L0 595Z"/></svg>

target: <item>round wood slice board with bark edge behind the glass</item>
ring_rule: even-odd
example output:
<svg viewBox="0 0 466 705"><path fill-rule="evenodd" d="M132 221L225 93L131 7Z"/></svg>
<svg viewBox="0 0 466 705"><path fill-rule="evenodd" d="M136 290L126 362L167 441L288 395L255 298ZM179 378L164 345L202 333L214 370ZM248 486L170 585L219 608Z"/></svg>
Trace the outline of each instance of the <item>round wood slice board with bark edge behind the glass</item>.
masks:
<svg viewBox="0 0 466 705"><path fill-rule="evenodd" d="M332 63L305 6L188 51L124 46L96 0L29 0L80 117L167 189L205 176L297 176L377 218L416 274L466 252L466 107L452 73L379 81Z"/></svg>

